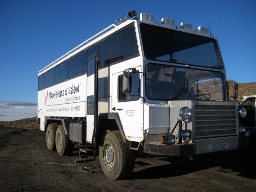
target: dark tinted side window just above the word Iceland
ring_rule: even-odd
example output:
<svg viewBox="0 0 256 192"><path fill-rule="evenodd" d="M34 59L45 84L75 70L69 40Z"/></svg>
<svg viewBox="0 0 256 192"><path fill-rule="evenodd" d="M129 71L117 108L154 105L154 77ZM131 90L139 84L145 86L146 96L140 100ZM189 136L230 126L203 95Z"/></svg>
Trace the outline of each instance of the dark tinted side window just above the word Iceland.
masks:
<svg viewBox="0 0 256 192"><path fill-rule="evenodd" d="M68 78L86 73L86 52L81 52L68 61Z"/></svg>

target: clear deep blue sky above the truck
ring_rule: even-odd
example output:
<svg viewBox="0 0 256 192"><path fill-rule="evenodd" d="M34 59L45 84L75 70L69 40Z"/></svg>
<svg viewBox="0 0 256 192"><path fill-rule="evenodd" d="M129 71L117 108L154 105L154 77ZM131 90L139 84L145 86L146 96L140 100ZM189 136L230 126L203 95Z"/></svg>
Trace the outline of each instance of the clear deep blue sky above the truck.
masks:
<svg viewBox="0 0 256 192"><path fill-rule="evenodd" d="M38 70L130 10L209 28L227 79L256 82L255 0L0 0L0 101L37 101Z"/></svg>

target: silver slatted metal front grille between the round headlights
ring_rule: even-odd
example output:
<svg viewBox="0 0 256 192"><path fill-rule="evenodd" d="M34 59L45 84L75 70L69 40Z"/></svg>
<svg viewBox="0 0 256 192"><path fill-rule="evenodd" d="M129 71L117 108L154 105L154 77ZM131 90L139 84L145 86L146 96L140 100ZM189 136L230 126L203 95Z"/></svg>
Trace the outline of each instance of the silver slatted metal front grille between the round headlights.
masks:
<svg viewBox="0 0 256 192"><path fill-rule="evenodd" d="M236 135L236 106L195 105L195 138Z"/></svg>

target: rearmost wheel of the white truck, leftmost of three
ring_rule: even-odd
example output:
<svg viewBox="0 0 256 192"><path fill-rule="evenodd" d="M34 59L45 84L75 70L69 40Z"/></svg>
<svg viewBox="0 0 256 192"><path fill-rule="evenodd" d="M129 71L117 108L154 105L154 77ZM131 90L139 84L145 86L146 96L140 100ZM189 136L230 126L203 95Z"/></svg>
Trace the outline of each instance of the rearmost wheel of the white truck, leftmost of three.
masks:
<svg viewBox="0 0 256 192"><path fill-rule="evenodd" d="M58 123L51 123L46 130L46 144L50 151L56 151L55 134L58 128Z"/></svg>

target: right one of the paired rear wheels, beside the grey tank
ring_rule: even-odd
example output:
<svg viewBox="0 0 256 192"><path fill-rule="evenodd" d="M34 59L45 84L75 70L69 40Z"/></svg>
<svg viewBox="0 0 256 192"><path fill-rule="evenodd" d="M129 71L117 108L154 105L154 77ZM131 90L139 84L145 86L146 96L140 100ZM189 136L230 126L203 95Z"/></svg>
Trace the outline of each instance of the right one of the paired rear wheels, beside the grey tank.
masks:
<svg viewBox="0 0 256 192"><path fill-rule="evenodd" d="M74 143L65 134L63 125L59 125L55 136L56 150L60 156L69 156L73 153Z"/></svg>

